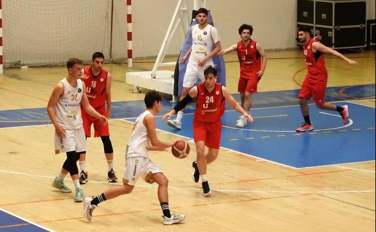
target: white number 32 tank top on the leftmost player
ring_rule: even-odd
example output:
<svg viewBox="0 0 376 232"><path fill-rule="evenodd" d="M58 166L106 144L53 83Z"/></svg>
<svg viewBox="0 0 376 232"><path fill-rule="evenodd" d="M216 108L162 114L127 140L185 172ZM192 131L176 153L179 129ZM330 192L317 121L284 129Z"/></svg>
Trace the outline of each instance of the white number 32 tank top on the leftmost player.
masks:
<svg viewBox="0 0 376 232"><path fill-rule="evenodd" d="M68 83L67 78L60 81L64 85L64 93L56 102L53 110L56 120L65 129L80 129L82 127L82 117L80 103L83 95L83 84L80 79L76 81L77 86L73 87Z"/></svg>

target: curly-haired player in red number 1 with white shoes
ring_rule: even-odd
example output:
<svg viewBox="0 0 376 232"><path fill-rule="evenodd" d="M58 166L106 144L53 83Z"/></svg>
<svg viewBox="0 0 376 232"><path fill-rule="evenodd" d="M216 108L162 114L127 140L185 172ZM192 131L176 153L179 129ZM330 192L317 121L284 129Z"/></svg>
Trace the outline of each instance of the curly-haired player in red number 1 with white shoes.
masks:
<svg viewBox="0 0 376 232"><path fill-rule="evenodd" d="M240 63L238 92L240 92L241 106L248 114L252 108L252 94L257 92L257 84L262 75L264 75L267 62L266 54L261 44L250 39L252 33L253 27L251 25L241 25L239 27L241 41L221 50L217 54L217 56L223 56L226 53L237 51ZM246 124L247 118L243 116L236 123L238 127L244 127Z"/></svg>

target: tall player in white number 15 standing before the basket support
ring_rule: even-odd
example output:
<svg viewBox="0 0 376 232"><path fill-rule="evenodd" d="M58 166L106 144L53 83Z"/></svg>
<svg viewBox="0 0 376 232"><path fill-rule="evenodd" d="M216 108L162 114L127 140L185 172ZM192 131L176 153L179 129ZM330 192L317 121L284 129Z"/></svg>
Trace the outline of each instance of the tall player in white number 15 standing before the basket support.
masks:
<svg viewBox="0 0 376 232"><path fill-rule="evenodd" d="M208 10L200 8L197 11L197 21L199 24L191 27L192 47L180 60L184 64L188 56L191 55L184 74L183 91L180 95L180 101L184 99L198 79L204 82L205 68L209 65L214 67L212 57L221 51L221 42L217 29L206 23L206 20L208 20ZM214 50L212 50L213 44L215 45ZM176 118L168 120L167 124L176 129L181 129L182 118L183 110L177 112Z"/></svg>

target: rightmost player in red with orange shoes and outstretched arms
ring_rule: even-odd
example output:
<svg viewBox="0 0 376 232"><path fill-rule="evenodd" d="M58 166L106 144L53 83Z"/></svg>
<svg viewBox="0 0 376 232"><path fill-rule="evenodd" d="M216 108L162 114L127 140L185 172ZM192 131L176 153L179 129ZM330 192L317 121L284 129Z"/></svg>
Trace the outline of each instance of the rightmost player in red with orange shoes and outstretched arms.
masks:
<svg viewBox="0 0 376 232"><path fill-rule="evenodd" d="M317 108L339 112L343 119L343 124L346 124L349 121L349 106L336 106L324 102L327 70L325 68L323 53L337 56L351 66L359 65L358 62L350 60L341 53L338 53L337 51L324 46L320 42L317 42L315 39L312 39L311 29L309 28L299 28L298 35L299 41L303 44L303 52L308 73L299 93L300 109L305 122L302 123L303 126L297 128L296 131L313 130L313 125L311 120L309 120L309 108L307 104L307 100L311 97L315 100Z"/></svg>

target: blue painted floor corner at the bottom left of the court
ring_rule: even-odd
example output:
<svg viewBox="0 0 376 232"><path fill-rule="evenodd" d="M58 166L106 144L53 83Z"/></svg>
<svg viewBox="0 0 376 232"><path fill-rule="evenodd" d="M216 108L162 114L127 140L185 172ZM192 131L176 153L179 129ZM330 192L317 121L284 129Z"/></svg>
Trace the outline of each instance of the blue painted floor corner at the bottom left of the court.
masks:
<svg viewBox="0 0 376 232"><path fill-rule="evenodd" d="M46 232L53 230L49 230L38 224L32 223L26 219L22 219L20 217L16 217L14 214L7 212L3 209L0 209L0 231L1 232L20 232L20 231L27 231L27 232Z"/></svg>

